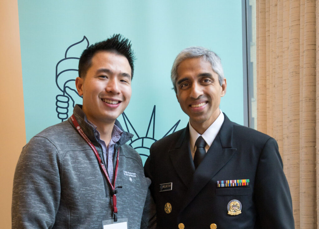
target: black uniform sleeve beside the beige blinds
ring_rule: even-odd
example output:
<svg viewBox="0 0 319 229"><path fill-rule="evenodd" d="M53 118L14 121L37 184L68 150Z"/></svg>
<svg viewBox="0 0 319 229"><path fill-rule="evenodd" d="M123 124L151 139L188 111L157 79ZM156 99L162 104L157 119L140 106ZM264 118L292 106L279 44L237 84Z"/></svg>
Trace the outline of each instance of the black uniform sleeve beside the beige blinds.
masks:
<svg viewBox="0 0 319 229"><path fill-rule="evenodd" d="M294 229L290 190L275 139L261 152L254 195L260 228Z"/></svg>

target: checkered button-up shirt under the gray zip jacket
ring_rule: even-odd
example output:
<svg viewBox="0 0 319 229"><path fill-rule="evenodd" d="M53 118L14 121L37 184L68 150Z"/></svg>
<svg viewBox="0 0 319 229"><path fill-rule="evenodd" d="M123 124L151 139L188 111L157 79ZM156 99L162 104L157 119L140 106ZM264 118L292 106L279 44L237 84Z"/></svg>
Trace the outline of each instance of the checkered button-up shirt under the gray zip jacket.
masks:
<svg viewBox="0 0 319 229"><path fill-rule="evenodd" d="M95 137L98 140L98 143L102 146L102 154L103 154L104 164L107 165L107 168L108 168L108 177L110 178L110 181L113 185L113 181L114 181L114 168L113 168L114 146L115 146L115 143L117 143L120 140L120 138L123 134L123 131L120 128L118 128L118 126L116 126L114 124L113 130L112 130L112 138L111 138L111 141L107 147L105 142L102 139L100 139L100 132L96 129L96 126L92 122L87 120L86 117L85 117L85 121L87 121L88 123L90 123L94 127Z"/></svg>

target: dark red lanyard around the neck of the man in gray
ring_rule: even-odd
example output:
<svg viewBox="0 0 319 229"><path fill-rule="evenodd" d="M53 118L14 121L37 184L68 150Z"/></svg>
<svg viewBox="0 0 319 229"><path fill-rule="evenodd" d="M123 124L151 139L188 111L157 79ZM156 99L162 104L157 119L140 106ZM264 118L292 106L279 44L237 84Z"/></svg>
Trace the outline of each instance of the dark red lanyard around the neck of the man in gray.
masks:
<svg viewBox="0 0 319 229"><path fill-rule="evenodd" d="M104 175L106 176L109 185L111 186L112 189L112 201L113 201L113 213L114 214L114 221L117 221L117 208L116 208L116 190L115 190L115 181L116 181L116 177L117 177L117 170L118 170L118 166L119 166L119 152L120 150L117 150L117 157L116 157L116 166L115 166L115 175L114 175L114 183L112 185L110 178L108 177L108 173L106 172L105 166L102 163L102 160L100 158L100 155L98 153L98 151L96 150L95 146L92 144L92 142L90 141L90 139L86 136L86 134L84 133L84 131L81 129L80 125L78 124L76 118L74 115L71 116L71 120L73 122L73 125L75 126L75 128L78 130L79 134L83 137L83 139L86 141L86 143L92 148L96 158L98 159L98 162L104 172Z"/></svg>

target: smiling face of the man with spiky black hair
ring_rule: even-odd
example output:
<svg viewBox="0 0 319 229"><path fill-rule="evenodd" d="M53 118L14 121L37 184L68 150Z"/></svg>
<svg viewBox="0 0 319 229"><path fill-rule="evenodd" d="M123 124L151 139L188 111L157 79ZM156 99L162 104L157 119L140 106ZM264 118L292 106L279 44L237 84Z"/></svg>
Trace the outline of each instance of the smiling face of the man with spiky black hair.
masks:
<svg viewBox="0 0 319 229"><path fill-rule="evenodd" d="M114 124L130 102L131 67L123 55L100 51L93 55L85 78L76 78L82 110L96 126Z"/></svg>

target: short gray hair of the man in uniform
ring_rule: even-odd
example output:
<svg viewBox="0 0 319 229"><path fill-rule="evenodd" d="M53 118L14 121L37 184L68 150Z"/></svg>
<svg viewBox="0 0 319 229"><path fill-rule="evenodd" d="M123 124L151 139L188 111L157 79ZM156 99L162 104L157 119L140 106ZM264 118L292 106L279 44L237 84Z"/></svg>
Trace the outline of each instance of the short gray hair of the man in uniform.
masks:
<svg viewBox="0 0 319 229"><path fill-rule="evenodd" d="M211 63L211 68L214 72L218 75L219 84L223 84L224 80L224 70L221 65L220 57L214 53L213 51L203 48L200 46L193 46L189 48L183 49L177 56L173 63L172 70L171 70L171 80L174 86L174 91L177 93L176 89L176 79L177 79L177 68L182 61L189 59L189 58L197 58L200 57L204 61L208 61Z"/></svg>

